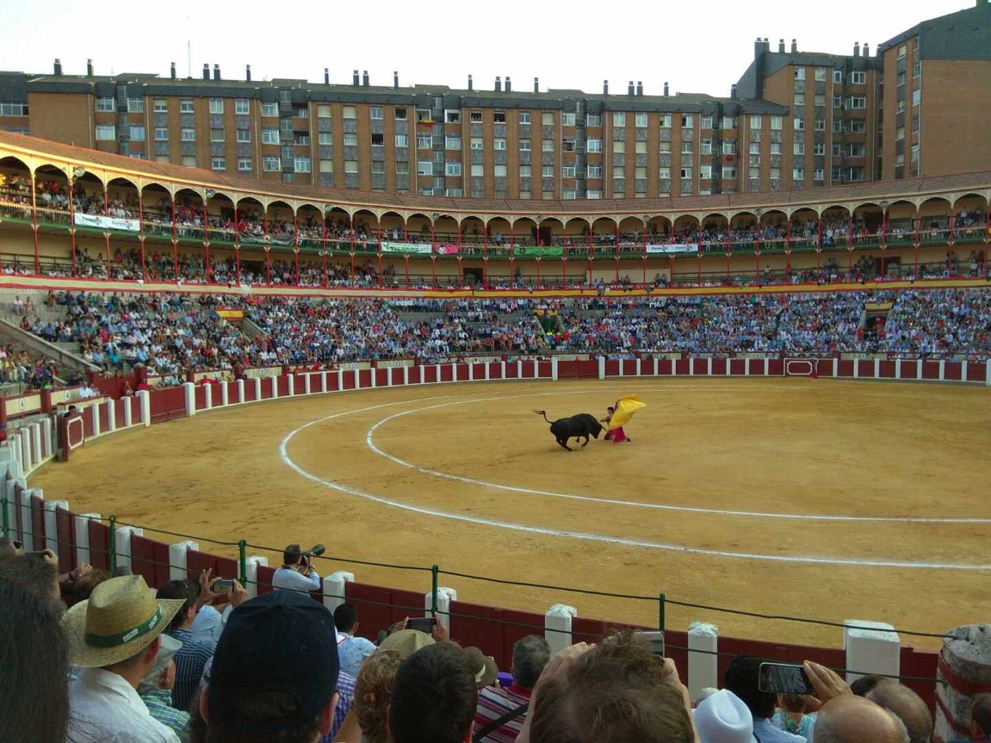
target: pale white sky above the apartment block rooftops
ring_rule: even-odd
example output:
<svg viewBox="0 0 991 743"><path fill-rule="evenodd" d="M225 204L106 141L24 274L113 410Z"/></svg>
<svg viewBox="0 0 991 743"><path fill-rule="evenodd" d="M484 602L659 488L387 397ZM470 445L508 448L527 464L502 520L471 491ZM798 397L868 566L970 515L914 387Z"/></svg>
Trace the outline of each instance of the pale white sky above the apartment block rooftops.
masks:
<svg viewBox="0 0 991 743"><path fill-rule="evenodd" d="M126 6L66 0L0 0L0 69L84 74L92 57L97 74L157 72L176 62L192 74L219 63L225 77L305 78L350 83L355 67L373 85L445 84L491 90L495 75L514 90L578 88L623 93L629 79L643 80L647 95L671 92L726 96L753 59L753 42L767 37L772 50L784 37L799 51L852 53L917 23L970 7L974 0L708 0L708 2L549 2L460 0L446 6L371 0L282 2L130 3ZM345 10L346 9L346 10ZM357 13L356 13L357 11ZM295 40L286 43L286 38Z"/></svg>

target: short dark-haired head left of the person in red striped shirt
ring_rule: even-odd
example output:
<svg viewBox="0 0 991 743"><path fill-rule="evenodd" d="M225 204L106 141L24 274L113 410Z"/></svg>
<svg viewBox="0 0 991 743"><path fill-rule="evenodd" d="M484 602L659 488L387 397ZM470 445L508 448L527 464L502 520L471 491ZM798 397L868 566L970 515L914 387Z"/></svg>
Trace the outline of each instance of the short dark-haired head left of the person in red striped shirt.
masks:
<svg viewBox="0 0 991 743"><path fill-rule="evenodd" d="M467 743L478 696L475 670L463 650L446 642L417 650L399 666L392 685L393 743Z"/></svg>

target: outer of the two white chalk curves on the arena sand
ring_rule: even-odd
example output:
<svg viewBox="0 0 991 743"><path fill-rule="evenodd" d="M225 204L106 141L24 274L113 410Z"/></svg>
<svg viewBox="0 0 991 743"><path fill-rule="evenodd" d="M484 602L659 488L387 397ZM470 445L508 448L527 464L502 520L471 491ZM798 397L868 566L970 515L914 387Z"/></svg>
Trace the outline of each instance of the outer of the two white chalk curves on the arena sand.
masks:
<svg viewBox="0 0 991 743"><path fill-rule="evenodd" d="M555 394L555 393L548 393ZM557 393L560 394L560 393ZM451 395L453 396L453 395ZM399 508L401 510L409 511L411 513L418 513L424 516L435 516L437 518L449 519L452 521L461 521L464 523L476 524L480 526L494 526L500 529L506 529L509 531L522 532L526 534L540 534L550 537L563 537L567 539L579 539L589 542L600 542L605 544L618 545L622 547L642 547L645 549L652 550L665 550L668 552L680 552L692 555L706 555L710 557L722 557L722 558L739 558L745 560L761 560L767 562L775 563L804 563L812 565L842 565L858 568L898 568L898 569L910 569L910 570L961 570L961 571L987 571L991 570L991 565L966 565L966 564L956 564L956 563L926 563L926 562L905 562L898 560L858 560L855 558L824 558L824 557L801 557L801 556L783 556L783 555L762 555L759 553L747 553L747 552L724 552L721 550L707 550L698 547L686 547L684 545L674 545L674 544L662 544L659 542L648 542L645 540L637 539L625 539L622 537L609 537L602 534L591 534L587 532L580 531L569 531L563 529L551 529L547 527L540 526L528 526L526 524L517 524L509 521L499 521L496 519L489 518L479 518L477 516L468 516L462 513L450 513L448 511L442 511L435 508L425 508L423 506L412 505L410 503L403 503L398 500L393 500L391 498L385 498L381 495L375 495L371 492L366 492L360 490L356 487L349 487L348 485L341 484L340 482L335 482L333 480L320 478L312 473L307 472L303 468L299 467L295 462L293 462L288 454L286 453L286 446L292 438L311 426L315 426L319 423L323 423L328 420L334 420L335 418L341 418L346 415L352 415L354 413L363 413L369 410L378 410L380 408L388 407L390 405L402 405L409 402L418 402L423 399L431 398L421 398L420 400L400 400L397 402L386 402L381 405L371 405L369 407L357 408L354 410L345 410L340 413L334 413L333 415L328 415L324 418L318 420L310 421L302 426L290 431L285 435L285 437L278 444L278 456L281 458L282 462L297 475L309 479L317 484L323 485L338 492L343 492L348 495L354 495L355 497L362 498L364 500L369 500L374 503L380 503L382 505L388 505L393 508ZM434 398L436 399L436 398Z"/></svg>

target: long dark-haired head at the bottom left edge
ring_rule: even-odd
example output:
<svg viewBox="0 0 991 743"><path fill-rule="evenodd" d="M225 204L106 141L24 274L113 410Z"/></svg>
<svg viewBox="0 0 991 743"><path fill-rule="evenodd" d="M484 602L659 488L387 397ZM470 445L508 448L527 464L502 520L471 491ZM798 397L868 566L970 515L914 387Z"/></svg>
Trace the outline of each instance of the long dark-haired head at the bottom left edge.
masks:
<svg viewBox="0 0 991 743"><path fill-rule="evenodd" d="M66 740L69 663L57 604L0 584L0 626L0 740Z"/></svg>

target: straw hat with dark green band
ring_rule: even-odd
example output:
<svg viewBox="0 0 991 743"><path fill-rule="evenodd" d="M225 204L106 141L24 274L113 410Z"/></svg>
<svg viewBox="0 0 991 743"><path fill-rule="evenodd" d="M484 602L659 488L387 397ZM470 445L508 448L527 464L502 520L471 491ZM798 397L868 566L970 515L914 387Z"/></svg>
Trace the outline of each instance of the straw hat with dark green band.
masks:
<svg viewBox="0 0 991 743"><path fill-rule="evenodd" d="M102 668L127 660L165 631L181 598L156 599L141 576L111 578L65 612L69 662Z"/></svg>

